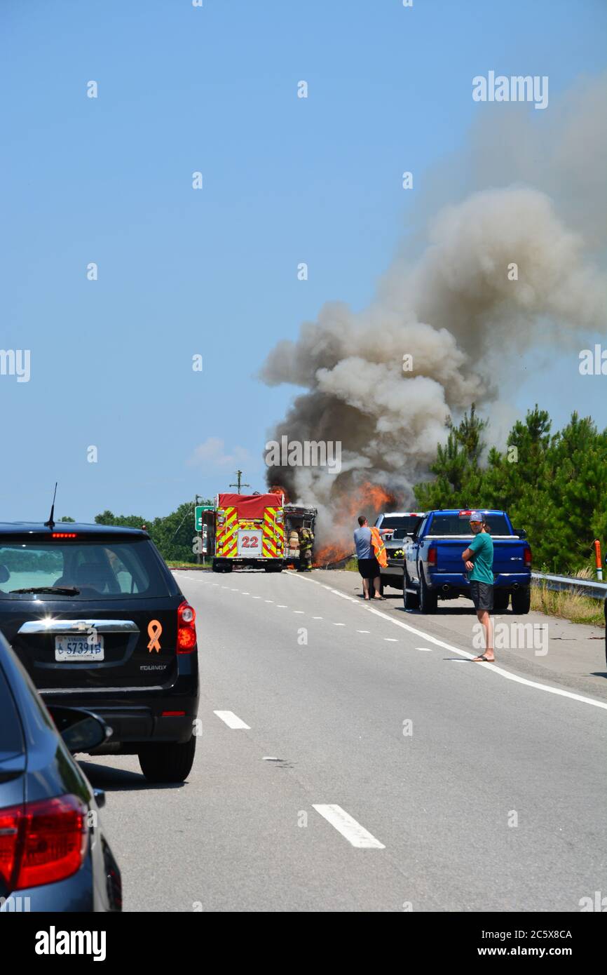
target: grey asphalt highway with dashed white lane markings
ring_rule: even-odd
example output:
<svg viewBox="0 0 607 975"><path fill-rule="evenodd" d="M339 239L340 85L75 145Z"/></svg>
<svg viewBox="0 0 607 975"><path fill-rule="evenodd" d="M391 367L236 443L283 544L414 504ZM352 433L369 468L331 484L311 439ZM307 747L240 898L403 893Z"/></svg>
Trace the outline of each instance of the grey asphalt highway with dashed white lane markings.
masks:
<svg viewBox="0 0 607 975"><path fill-rule="evenodd" d="M602 643L583 673L551 648L476 664L464 603L369 606L346 572L176 577L202 675L189 780L82 762L126 911L576 912L607 891Z"/></svg>

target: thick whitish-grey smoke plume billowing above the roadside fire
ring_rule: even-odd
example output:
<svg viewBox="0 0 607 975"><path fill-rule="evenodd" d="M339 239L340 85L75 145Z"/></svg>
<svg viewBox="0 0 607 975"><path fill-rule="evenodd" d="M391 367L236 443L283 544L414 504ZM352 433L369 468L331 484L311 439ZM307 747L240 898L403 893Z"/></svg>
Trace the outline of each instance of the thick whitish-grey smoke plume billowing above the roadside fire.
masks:
<svg viewBox="0 0 607 975"><path fill-rule="evenodd" d="M604 176L602 182L595 176L607 170L606 100L601 79L573 121L571 112L557 113L561 125L552 124L548 146L553 171L544 157L539 169L551 196L529 185L538 136L526 118L512 115L516 185L483 188L443 206L428 222L425 251L415 263L402 255L395 260L365 311L327 302L296 341L279 342L267 357L261 370L266 383L306 390L272 438L342 443L340 474L314 467L268 472L268 483L285 486L292 500L320 507L322 541L349 536L354 512L345 510L344 497L364 505L356 490L362 484L383 486L398 504L413 504L412 486L427 476L449 414L457 418L474 401L499 404L501 378L512 374L525 350L604 331L605 278L588 245L594 251L604 246L594 215L606 209ZM582 140L577 153L564 145L572 131ZM478 132L473 142L482 144ZM556 176L563 168L561 209L575 229L559 210ZM502 174L503 166L498 169ZM577 207L571 202L574 176ZM478 171L477 183L483 182ZM403 355L412 357L411 371L403 371ZM373 507L368 499L369 514Z"/></svg>

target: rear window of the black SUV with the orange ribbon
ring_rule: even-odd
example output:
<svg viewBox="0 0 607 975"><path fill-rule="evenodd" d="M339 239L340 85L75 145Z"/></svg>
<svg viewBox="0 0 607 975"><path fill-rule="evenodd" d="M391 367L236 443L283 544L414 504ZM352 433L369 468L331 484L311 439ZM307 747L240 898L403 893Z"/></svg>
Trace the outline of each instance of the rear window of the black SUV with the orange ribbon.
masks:
<svg viewBox="0 0 607 975"><path fill-rule="evenodd" d="M146 538L82 537L47 541L27 536L0 538L0 600L19 599L15 590L75 587L77 594L41 593L41 599L149 599L170 593L167 579ZM20 598L31 599L31 593Z"/></svg>

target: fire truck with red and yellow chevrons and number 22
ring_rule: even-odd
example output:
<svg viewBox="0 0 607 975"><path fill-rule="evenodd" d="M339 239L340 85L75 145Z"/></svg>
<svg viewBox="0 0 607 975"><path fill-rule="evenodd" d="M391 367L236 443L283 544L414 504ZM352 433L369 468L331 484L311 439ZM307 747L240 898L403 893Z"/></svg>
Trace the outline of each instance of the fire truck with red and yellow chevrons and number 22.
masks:
<svg viewBox="0 0 607 975"><path fill-rule="evenodd" d="M296 529L314 530L316 514L315 508L285 504L284 494L217 494L213 572L231 572L235 565L282 572L299 557Z"/></svg>

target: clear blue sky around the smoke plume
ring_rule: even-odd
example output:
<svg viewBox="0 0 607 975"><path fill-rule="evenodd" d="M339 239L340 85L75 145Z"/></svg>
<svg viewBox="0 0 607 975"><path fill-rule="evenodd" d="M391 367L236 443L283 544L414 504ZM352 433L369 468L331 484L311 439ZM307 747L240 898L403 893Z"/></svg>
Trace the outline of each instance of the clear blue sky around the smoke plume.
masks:
<svg viewBox="0 0 607 975"><path fill-rule="evenodd" d="M262 488L297 390L256 371L325 300L370 300L409 229L400 174L465 142L473 76L555 98L607 61L601 0L3 0L0 29L0 347L31 350L29 382L0 376L8 521L46 517L56 479L84 521L166 514L237 466ZM571 371L530 370L514 406L606 426L604 380Z"/></svg>

